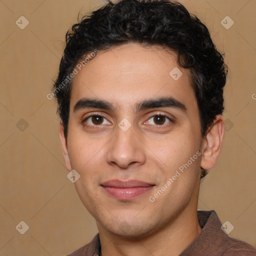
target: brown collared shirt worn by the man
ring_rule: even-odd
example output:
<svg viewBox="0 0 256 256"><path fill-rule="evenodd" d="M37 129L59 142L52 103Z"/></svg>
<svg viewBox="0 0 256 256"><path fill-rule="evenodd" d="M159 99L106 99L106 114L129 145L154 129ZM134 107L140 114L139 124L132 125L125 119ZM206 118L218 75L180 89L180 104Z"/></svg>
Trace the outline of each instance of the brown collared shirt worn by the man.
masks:
<svg viewBox="0 0 256 256"><path fill-rule="evenodd" d="M179 256L256 256L253 246L231 238L222 231L221 222L214 210L198 210L197 216L202 230ZM100 256L98 233L91 242L67 256Z"/></svg>

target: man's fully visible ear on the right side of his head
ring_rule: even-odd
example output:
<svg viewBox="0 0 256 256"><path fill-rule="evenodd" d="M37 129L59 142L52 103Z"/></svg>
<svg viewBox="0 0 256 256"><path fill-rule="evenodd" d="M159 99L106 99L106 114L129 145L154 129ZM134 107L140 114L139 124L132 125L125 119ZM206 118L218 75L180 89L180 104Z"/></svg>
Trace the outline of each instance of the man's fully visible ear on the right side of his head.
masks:
<svg viewBox="0 0 256 256"><path fill-rule="evenodd" d="M213 124L202 140L201 167L203 169L207 170L215 165L221 150L224 131L224 119L223 116L219 114L215 117Z"/></svg>

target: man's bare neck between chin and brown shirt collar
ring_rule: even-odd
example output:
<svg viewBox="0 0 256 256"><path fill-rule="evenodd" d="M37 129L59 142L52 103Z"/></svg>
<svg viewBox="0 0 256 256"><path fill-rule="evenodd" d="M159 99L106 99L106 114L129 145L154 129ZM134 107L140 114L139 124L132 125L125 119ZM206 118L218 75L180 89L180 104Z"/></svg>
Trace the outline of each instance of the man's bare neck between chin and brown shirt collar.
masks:
<svg viewBox="0 0 256 256"><path fill-rule="evenodd" d="M196 207L185 208L162 228L142 237L117 236L97 222L100 256L178 256L201 231Z"/></svg>

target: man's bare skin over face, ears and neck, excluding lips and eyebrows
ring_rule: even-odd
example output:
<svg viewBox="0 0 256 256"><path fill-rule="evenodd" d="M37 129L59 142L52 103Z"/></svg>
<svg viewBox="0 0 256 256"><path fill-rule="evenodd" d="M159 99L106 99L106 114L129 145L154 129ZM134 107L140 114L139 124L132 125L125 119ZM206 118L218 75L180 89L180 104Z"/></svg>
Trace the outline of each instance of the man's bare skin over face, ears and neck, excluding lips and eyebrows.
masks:
<svg viewBox="0 0 256 256"><path fill-rule="evenodd" d="M67 170L80 174L74 185L96 219L103 256L179 255L201 230L200 166L210 169L216 162L223 117L216 116L201 136L188 70L178 67L183 74L176 81L169 75L178 66L176 57L172 50L125 44L100 51L73 78L68 135L65 138L60 122L59 137ZM136 112L138 102L164 96L180 101L186 111L157 107ZM107 100L113 110L73 111L84 97ZM89 117L96 113L105 117L100 125ZM151 116L159 113L172 121L166 117L158 124ZM126 131L118 126L123 118L131 124ZM201 155L155 201L149 201L197 151ZM118 200L100 186L109 179L138 179L154 186L136 198Z"/></svg>

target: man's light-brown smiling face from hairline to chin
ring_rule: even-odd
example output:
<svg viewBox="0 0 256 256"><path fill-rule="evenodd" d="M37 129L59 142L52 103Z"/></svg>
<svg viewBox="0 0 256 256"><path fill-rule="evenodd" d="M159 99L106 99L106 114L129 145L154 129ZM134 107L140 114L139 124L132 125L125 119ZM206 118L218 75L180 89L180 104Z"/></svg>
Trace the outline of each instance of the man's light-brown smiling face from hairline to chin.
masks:
<svg viewBox="0 0 256 256"><path fill-rule="evenodd" d="M79 173L81 201L111 233L149 234L197 207L199 110L176 57L122 45L73 78L67 141L61 136L66 168Z"/></svg>

